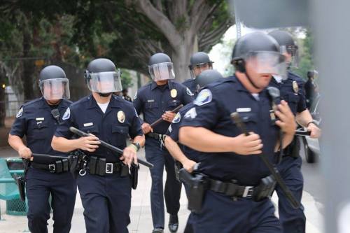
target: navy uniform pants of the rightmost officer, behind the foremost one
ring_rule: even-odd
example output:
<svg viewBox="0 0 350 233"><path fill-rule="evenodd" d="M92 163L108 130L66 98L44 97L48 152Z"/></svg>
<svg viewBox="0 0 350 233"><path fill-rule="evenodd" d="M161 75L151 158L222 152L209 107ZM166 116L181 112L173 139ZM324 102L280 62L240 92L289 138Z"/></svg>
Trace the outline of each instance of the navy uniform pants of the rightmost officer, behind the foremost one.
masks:
<svg viewBox="0 0 350 233"><path fill-rule="evenodd" d="M302 199L302 189L304 187L301 165L301 157L286 156L283 157L278 167L283 181L299 202ZM283 227L283 233L304 233L306 224L304 207L300 206L299 209L294 209L278 185L276 186L276 192L279 196L279 220Z"/></svg>

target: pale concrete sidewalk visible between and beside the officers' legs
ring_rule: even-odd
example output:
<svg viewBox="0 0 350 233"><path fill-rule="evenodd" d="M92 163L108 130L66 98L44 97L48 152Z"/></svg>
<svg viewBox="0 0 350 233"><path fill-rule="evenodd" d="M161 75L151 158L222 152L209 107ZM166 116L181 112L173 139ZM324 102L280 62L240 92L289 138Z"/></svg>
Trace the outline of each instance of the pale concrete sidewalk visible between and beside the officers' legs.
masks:
<svg viewBox="0 0 350 233"><path fill-rule="evenodd" d="M0 150L0 157L4 155L5 150ZM6 153L9 155L12 153ZM1 156L2 155L2 156ZM140 157L144 157L144 151L140 152ZM7 156L6 156L7 157ZM164 176L165 177L165 176ZM129 225L130 232L137 233L151 233L153 230L152 216L151 216L151 202L150 202L150 190L151 190L151 176L146 167L141 166L139 173L139 186L137 190L132 191L132 209L130 213L131 223ZM274 203L277 203L276 196L273 198ZM307 233L321 233L322 216L316 208L316 203L307 192L304 192L302 200L305 213L307 215ZM1 221L0 221L0 233L14 233L14 232L29 232L27 227L27 216L8 216L5 214L6 205L4 201L0 201L1 204ZM181 193L181 209L179 211L179 232L183 232L186 225L190 211L187 210L187 199L184 189ZM165 232L169 232L167 229L167 222L169 215L165 216ZM52 219L48 221L49 232L52 232ZM74 210L71 232L85 232L85 223L83 217L83 206L80 201L79 195L76 197L76 206ZM220 232L218 232L220 233Z"/></svg>

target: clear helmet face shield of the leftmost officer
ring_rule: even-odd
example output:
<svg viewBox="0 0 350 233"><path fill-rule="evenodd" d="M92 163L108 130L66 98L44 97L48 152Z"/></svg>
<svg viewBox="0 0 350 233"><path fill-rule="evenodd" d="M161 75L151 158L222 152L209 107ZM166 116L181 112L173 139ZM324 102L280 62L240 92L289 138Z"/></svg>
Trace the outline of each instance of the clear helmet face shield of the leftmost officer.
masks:
<svg viewBox="0 0 350 233"><path fill-rule="evenodd" d="M71 97L67 78L40 80L39 87L46 100L69 99Z"/></svg>

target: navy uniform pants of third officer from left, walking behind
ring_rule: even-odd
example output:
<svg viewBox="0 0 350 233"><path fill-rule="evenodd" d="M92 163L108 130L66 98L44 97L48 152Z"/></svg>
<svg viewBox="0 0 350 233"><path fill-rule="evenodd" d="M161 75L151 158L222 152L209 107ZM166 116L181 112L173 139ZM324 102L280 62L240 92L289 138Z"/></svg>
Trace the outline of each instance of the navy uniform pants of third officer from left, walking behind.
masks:
<svg viewBox="0 0 350 233"><path fill-rule="evenodd" d="M146 160L154 167L150 169L152 178L151 211L154 228L165 225L164 199L169 214L177 214L180 209L181 183L176 180L175 164L166 148L160 147L160 141L146 139ZM163 197L163 171L167 171L167 180Z"/></svg>

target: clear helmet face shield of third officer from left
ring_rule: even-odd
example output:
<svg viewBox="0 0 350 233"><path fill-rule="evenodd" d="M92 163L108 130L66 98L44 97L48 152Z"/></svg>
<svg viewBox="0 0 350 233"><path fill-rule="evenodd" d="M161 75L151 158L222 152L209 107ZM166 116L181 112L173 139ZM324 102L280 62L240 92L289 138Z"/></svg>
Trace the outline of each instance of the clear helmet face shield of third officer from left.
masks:
<svg viewBox="0 0 350 233"><path fill-rule="evenodd" d="M169 80L175 78L174 66L172 62L164 62L148 66L148 71L153 81Z"/></svg>

